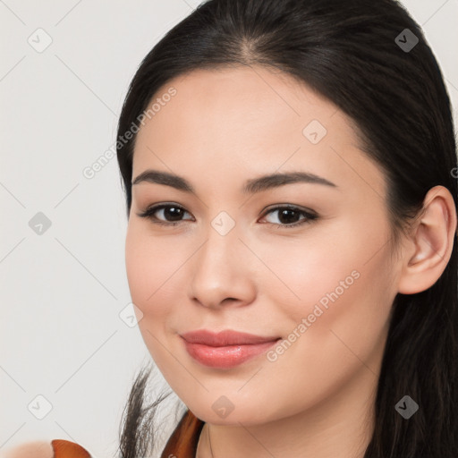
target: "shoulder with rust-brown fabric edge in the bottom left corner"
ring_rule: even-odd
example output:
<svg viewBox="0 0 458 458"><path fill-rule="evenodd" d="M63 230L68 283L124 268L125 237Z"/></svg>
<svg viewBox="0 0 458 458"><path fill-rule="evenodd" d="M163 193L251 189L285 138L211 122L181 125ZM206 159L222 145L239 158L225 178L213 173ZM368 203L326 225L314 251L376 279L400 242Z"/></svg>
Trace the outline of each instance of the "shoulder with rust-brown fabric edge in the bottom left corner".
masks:
<svg viewBox="0 0 458 458"><path fill-rule="evenodd" d="M89 452L72 441L55 439L17 445L0 458L90 458Z"/></svg>

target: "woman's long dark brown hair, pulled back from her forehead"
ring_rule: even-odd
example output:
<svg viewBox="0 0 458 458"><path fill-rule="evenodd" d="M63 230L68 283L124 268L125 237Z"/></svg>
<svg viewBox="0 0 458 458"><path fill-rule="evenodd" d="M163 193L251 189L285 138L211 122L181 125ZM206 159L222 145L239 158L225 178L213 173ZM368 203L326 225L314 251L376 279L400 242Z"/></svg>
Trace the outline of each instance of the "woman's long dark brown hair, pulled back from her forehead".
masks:
<svg viewBox="0 0 458 458"><path fill-rule="evenodd" d="M407 29L407 30L406 30ZM418 40L418 42L417 42ZM132 130L158 90L194 69L276 67L348 114L367 156L388 182L394 242L443 185L457 207L450 100L435 56L394 0L208 0L165 34L140 64L123 104L118 136ZM117 159L131 208L135 135ZM458 456L457 237L442 276L428 290L397 294L377 384L376 424L365 458ZM157 409L143 401L140 373L128 401L120 450L144 453ZM394 406L408 394L420 409L405 420ZM151 417L152 418L152 417Z"/></svg>

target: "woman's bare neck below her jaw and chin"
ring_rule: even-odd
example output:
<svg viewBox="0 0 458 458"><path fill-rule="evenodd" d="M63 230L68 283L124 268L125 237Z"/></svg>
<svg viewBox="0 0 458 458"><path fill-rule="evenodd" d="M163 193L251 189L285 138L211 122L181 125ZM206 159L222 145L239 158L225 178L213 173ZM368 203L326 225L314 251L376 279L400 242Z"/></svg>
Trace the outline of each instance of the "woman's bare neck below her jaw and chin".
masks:
<svg viewBox="0 0 458 458"><path fill-rule="evenodd" d="M345 386L292 416L263 424L206 423L196 458L363 458L374 428L376 388L377 376L362 366Z"/></svg>

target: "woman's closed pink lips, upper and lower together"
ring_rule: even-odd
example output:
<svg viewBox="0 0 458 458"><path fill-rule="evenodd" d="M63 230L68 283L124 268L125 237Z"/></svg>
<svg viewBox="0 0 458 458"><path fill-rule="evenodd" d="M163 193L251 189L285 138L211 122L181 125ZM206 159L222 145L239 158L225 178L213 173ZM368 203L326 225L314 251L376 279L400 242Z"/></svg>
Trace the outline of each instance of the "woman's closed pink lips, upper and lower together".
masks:
<svg viewBox="0 0 458 458"><path fill-rule="evenodd" d="M252 335L231 329L213 333L206 329L180 335L187 352L201 364L218 369L238 366L266 352L281 337Z"/></svg>

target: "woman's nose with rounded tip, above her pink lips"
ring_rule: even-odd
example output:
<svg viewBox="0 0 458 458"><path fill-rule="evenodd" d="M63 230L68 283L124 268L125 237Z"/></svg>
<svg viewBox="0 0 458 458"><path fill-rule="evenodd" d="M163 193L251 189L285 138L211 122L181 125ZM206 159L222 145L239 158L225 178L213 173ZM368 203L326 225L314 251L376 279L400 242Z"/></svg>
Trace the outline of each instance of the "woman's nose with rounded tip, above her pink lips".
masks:
<svg viewBox="0 0 458 458"><path fill-rule="evenodd" d="M203 307L241 307L256 296L253 255L239 238L237 226L222 235L209 227L191 265L191 301ZM259 268L259 266L258 266Z"/></svg>

